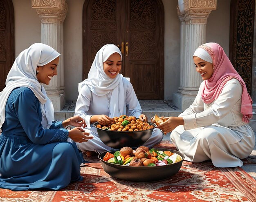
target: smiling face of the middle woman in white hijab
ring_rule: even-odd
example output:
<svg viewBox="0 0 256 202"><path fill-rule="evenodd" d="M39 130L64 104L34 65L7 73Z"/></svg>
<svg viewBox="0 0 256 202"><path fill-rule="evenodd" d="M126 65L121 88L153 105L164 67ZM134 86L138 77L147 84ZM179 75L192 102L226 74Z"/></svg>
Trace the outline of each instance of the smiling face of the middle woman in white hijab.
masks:
<svg viewBox="0 0 256 202"><path fill-rule="evenodd" d="M109 78L115 78L121 70L121 55L119 53L113 53L109 58L103 62L103 69Z"/></svg>

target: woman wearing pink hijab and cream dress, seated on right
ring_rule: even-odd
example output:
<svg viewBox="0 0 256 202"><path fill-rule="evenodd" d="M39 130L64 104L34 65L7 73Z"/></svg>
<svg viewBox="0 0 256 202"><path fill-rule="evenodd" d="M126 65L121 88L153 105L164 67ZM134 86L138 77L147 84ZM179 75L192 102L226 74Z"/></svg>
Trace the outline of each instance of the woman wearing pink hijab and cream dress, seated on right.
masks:
<svg viewBox="0 0 256 202"><path fill-rule="evenodd" d="M171 132L171 141L191 162L212 161L216 167L242 166L255 144L249 126L252 99L245 82L222 47L206 43L193 60L202 76L193 104L178 117L166 117L158 126Z"/></svg>

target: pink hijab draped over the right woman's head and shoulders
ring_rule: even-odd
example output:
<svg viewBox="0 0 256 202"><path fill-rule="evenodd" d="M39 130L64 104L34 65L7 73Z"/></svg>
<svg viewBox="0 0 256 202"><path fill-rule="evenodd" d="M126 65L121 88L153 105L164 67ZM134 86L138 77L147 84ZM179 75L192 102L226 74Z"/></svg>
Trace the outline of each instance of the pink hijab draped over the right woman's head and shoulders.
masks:
<svg viewBox="0 0 256 202"><path fill-rule="evenodd" d="M239 80L243 87L241 113L243 114L243 122L249 122L252 118L252 98L247 92L245 82L237 73L236 69L231 64L229 58L223 51L222 47L216 43L202 44L198 49L204 49L209 53L213 63L213 75L208 80L204 80L202 88L202 100L209 104L215 101L220 95L226 82L232 78ZM197 56L197 55L196 55ZM198 56L199 57L199 56Z"/></svg>

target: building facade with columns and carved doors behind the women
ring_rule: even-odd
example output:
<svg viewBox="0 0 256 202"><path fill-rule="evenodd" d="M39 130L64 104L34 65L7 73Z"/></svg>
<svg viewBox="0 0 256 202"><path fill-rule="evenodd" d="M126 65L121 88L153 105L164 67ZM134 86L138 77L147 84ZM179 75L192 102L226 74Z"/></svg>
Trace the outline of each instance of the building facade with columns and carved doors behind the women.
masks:
<svg viewBox="0 0 256 202"><path fill-rule="evenodd" d="M219 43L256 104L255 1L251 0L0 0L0 87L18 54L35 42L61 53L46 86L56 111L76 100L103 44L123 53L122 74L139 99L171 100L181 110L202 82L193 52ZM254 109L255 111L255 109Z"/></svg>

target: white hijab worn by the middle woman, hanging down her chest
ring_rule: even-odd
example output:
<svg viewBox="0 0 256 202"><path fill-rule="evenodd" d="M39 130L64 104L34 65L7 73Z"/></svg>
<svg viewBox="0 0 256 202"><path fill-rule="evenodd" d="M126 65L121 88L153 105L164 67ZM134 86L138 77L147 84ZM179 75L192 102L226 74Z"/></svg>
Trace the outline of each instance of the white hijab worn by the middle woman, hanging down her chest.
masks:
<svg viewBox="0 0 256 202"><path fill-rule="evenodd" d="M110 114L112 117L119 116L120 114L126 114L126 103L123 85L123 75L117 74L112 79L104 72L103 62L105 62L113 53L119 53L122 58L121 51L114 44L106 44L96 54L92 67L88 73L88 78L79 83L78 91L84 85L87 85L89 89L98 96L103 96L112 91L110 98Z"/></svg>

